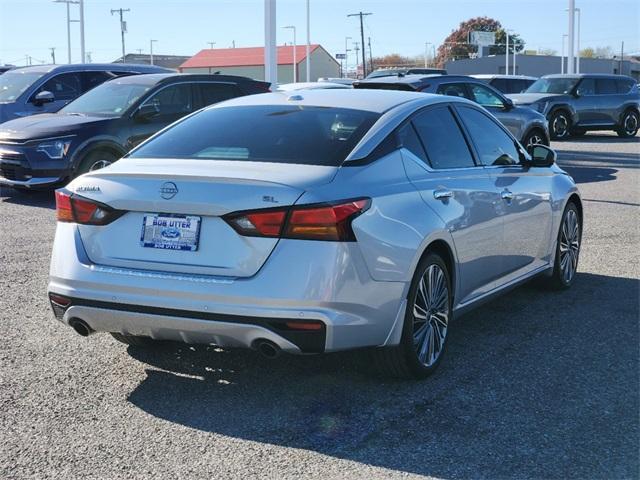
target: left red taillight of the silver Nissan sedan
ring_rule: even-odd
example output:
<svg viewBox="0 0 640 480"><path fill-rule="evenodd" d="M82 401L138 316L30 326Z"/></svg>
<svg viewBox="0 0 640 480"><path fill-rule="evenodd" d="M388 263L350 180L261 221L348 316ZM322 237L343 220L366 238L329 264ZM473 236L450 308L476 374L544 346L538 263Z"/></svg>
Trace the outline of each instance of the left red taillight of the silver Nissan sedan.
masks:
<svg viewBox="0 0 640 480"><path fill-rule="evenodd" d="M107 225L123 213L67 190L56 190L56 217L59 222Z"/></svg>

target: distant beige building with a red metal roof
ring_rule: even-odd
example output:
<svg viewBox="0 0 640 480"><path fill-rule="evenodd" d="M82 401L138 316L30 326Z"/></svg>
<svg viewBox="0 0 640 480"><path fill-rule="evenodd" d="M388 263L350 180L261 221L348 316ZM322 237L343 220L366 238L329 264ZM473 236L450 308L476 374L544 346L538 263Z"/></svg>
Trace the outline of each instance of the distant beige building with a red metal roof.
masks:
<svg viewBox="0 0 640 480"><path fill-rule="evenodd" d="M278 83L293 82L293 45L277 48ZM321 45L311 45L311 78L340 76L340 64ZM296 70L298 81L306 78L306 45L296 46ZM241 75L264 80L264 47L213 48L201 50L180 65L180 72Z"/></svg>

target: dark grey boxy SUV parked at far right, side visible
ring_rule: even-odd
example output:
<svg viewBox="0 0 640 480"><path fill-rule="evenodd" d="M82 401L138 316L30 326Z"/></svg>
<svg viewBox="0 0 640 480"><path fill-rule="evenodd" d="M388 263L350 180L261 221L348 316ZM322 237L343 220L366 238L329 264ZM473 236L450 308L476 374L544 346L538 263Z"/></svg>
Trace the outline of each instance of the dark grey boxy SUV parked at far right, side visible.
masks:
<svg viewBox="0 0 640 480"><path fill-rule="evenodd" d="M633 137L640 125L640 92L624 75L547 75L524 93L507 95L549 120L551 138L562 140L587 130L613 130Z"/></svg>

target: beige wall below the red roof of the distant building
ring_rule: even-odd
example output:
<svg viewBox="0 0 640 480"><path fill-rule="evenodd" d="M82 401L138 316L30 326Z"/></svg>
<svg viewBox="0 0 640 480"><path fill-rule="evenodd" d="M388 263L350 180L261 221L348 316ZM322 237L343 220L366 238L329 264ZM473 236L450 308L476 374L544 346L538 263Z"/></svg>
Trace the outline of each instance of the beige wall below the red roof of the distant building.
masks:
<svg viewBox="0 0 640 480"><path fill-rule="evenodd" d="M306 82L307 72L306 62L298 64L298 81ZM264 66L255 65L249 67L212 67L212 68L185 68L184 73L214 73L220 72L223 75L240 75L242 77L264 80ZM315 82L320 77L338 77L340 75L340 65L321 48L317 48L311 53L311 80ZM293 82L293 65L278 65L278 83Z"/></svg>

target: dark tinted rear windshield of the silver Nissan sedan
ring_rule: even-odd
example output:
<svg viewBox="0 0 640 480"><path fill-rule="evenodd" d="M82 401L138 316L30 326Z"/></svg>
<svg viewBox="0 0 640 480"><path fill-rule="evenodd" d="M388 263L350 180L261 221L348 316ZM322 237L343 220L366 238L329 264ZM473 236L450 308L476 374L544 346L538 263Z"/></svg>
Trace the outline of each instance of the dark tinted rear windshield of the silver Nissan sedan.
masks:
<svg viewBox="0 0 640 480"><path fill-rule="evenodd" d="M338 166L379 114L302 106L204 110L135 150L130 158L184 158Z"/></svg>

